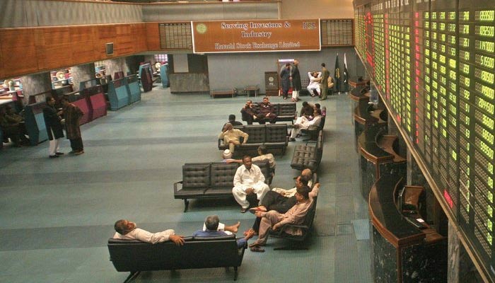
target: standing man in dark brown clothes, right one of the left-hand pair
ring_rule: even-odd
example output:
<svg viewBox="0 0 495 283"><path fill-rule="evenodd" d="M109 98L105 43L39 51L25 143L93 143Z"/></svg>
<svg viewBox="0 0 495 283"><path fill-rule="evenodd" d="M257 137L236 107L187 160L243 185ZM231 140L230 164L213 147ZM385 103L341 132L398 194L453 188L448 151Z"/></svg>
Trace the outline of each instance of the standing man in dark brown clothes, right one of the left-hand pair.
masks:
<svg viewBox="0 0 495 283"><path fill-rule="evenodd" d="M79 128L79 119L83 117L83 111L76 105L69 103L67 98L60 99L64 108L65 130L67 139L71 141L71 154L80 155L84 153L83 139L81 138L81 129Z"/></svg>

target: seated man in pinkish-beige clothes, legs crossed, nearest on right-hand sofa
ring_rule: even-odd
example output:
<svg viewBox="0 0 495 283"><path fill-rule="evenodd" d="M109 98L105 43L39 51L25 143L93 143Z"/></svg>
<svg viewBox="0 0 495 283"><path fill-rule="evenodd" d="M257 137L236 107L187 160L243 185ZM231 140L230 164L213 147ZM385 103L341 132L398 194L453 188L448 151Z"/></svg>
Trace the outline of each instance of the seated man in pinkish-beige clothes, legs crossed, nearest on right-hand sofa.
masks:
<svg viewBox="0 0 495 283"><path fill-rule="evenodd" d="M274 210L269 212L256 212L257 217L261 217L260 233L258 239L249 245L253 252L264 252L260 246L264 246L268 240L268 232L270 229L279 229L284 224L301 224L304 221L308 209L311 206L309 200L310 188L306 185L297 189L297 203L288 212L281 214Z"/></svg>

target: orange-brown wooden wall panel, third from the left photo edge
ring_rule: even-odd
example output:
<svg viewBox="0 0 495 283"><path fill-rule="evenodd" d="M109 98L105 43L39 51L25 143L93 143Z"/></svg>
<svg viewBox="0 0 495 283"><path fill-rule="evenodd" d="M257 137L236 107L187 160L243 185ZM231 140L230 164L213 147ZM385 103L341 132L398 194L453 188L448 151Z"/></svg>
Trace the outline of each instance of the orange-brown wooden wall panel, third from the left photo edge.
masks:
<svg viewBox="0 0 495 283"><path fill-rule="evenodd" d="M73 65L95 61L95 28L92 25L71 28Z"/></svg>

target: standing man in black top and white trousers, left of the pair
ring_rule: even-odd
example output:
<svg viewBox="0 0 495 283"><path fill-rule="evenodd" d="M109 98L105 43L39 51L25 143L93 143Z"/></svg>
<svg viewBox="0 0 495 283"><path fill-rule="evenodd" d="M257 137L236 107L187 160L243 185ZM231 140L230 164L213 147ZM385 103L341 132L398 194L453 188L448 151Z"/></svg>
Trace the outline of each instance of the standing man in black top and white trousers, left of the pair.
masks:
<svg viewBox="0 0 495 283"><path fill-rule="evenodd" d="M64 154L59 152L60 142L64 137L64 129L60 117L63 113L62 110L55 110L55 99L51 96L47 96L47 107L43 108L43 118L45 119L45 125L47 127L48 139L50 139L50 158L56 158Z"/></svg>

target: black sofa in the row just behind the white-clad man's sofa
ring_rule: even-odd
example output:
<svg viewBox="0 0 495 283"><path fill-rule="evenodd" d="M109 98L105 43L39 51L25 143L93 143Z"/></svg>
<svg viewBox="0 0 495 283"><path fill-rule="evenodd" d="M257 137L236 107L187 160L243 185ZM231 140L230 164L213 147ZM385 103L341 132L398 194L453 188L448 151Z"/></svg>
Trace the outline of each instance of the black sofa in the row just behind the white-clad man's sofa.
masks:
<svg viewBox="0 0 495 283"><path fill-rule="evenodd" d="M287 145L289 144L286 124L245 125L235 126L234 128L249 134L246 144L235 146L235 154L237 156L255 153L260 145L267 146L268 151L275 149L280 150L281 154L285 154ZM241 141L243 141L242 137ZM219 139L219 149L228 149L228 144L223 144L223 139Z"/></svg>

